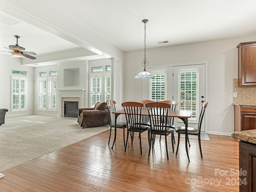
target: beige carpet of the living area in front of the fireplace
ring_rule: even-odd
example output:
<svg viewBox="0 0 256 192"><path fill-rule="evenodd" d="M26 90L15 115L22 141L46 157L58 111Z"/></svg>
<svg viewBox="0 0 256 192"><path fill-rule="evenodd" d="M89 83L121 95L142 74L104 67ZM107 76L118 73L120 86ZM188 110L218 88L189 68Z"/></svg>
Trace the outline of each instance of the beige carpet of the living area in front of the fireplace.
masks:
<svg viewBox="0 0 256 192"><path fill-rule="evenodd" d="M109 126L83 129L77 118L6 117L5 124L0 126L0 172L108 129Z"/></svg>

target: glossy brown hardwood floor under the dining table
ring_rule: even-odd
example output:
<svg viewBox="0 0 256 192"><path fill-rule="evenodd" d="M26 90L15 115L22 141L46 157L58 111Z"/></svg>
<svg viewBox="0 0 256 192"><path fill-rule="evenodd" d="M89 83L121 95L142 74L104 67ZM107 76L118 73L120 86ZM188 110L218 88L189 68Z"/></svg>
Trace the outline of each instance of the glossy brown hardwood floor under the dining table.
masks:
<svg viewBox="0 0 256 192"><path fill-rule="evenodd" d="M156 138L148 157L147 133L142 133L142 155L138 135L133 146L129 140L126 152L122 130L113 149L108 136L109 130L3 172L0 192L239 191L239 176L234 175L238 141L231 136L210 135L211 141L201 141L203 159L198 140L190 139L190 162L184 138L176 156L168 137L167 160L164 138Z"/></svg>

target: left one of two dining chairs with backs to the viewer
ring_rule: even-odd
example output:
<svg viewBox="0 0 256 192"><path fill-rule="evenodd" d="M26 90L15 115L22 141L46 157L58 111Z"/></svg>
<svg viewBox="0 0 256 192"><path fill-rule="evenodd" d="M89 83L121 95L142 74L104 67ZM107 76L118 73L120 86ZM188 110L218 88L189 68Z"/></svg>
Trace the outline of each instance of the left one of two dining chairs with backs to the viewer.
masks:
<svg viewBox="0 0 256 192"><path fill-rule="evenodd" d="M131 133L130 135L131 135L132 144L133 144L134 132L138 132L139 140L140 140L140 154L142 155L142 147L141 147L142 132L148 131L148 143L150 143L150 126L141 124L141 120L142 120L141 110L143 108L143 104L139 102L124 102L122 103L122 106L124 107L126 124L127 124L127 138L126 138L125 151L128 144L129 133Z"/></svg>

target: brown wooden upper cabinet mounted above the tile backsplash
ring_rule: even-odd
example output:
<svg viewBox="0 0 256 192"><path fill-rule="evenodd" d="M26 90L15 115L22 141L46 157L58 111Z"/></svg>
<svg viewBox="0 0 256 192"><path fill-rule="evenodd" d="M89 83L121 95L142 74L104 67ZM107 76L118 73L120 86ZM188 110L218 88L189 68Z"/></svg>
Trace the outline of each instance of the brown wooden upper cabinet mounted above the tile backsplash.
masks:
<svg viewBox="0 0 256 192"><path fill-rule="evenodd" d="M238 86L256 86L256 42L244 42L238 48Z"/></svg>

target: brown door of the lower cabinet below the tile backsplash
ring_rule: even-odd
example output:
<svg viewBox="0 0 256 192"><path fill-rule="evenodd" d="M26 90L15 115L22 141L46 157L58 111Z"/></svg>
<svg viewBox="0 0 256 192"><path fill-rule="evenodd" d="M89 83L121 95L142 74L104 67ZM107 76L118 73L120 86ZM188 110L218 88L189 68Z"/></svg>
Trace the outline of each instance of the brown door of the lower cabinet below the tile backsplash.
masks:
<svg viewBox="0 0 256 192"><path fill-rule="evenodd" d="M256 114L241 113L241 131L256 129Z"/></svg>

